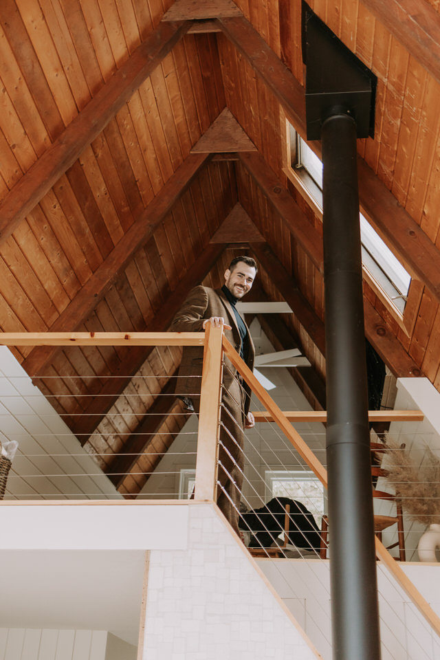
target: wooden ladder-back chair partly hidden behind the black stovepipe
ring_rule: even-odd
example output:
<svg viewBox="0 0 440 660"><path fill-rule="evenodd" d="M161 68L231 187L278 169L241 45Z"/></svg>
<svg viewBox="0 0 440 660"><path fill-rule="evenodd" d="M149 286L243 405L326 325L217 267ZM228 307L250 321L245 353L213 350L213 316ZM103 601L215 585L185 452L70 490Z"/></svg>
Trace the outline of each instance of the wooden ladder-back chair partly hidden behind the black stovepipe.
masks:
<svg viewBox="0 0 440 660"><path fill-rule="evenodd" d="M385 452L384 445L380 443L371 443L371 451L377 456L377 454L383 454ZM371 466L371 475L373 477L386 476L386 470L380 466L380 461L376 461ZM401 562L406 561L405 553L405 534L404 534L404 516L401 508L401 501L392 493L386 493L382 490L377 490L373 487L373 498L388 500L395 503L396 515L395 516L382 516L380 514L375 514L374 516L374 531L377 538L382 541L382 532L384 529L388 529L391 525L397 525L397 541L388 545L387 550L391 550L395 547L399 548L399 560ZM321 525L321 544L320 544L320 558L327 558L327 547L328 547L328 538L329 538L329 519L327 516L322 516L322 525Z"/></svg>

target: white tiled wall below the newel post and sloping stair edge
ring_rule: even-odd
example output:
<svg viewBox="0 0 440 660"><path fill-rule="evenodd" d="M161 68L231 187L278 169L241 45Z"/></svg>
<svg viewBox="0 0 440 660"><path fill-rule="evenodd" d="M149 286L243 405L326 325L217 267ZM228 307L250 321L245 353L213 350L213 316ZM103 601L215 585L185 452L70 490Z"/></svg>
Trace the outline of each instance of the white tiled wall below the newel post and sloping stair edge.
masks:
<svg viewBox="0 0 440 660"><path fill-rule="evenodd" d="M217 511L190 506L186 551L150 553L143 660L316 659Z"/></svg>

